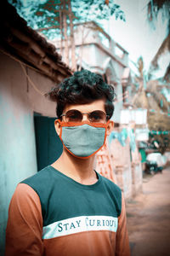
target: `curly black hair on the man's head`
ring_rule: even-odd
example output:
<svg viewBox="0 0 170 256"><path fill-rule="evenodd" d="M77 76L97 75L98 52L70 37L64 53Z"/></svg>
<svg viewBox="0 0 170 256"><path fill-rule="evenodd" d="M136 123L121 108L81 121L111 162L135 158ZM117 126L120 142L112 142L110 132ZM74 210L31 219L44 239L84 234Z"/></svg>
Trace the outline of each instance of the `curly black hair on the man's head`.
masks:
<svg viewBox="0 0 170 256"><path fill-rule="evenodd" d="M67 104L87 104L105 98L105 112L111 119L114 111L114 87L106 84L102 76L86 69L75 72L56 85L46 96L57 102L56 113L60 119Z"/></svg>

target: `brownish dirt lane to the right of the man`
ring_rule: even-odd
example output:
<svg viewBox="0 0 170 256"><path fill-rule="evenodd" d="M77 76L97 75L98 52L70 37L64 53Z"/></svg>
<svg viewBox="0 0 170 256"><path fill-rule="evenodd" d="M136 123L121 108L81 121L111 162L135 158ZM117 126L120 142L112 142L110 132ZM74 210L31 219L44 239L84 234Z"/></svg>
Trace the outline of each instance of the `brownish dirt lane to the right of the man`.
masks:
<svg viewBox="0 0 170 256"><path fill-rule="evenodd" d="M127 201L131 256L170 256L170 167L144 177L143 192Z"/></svg>

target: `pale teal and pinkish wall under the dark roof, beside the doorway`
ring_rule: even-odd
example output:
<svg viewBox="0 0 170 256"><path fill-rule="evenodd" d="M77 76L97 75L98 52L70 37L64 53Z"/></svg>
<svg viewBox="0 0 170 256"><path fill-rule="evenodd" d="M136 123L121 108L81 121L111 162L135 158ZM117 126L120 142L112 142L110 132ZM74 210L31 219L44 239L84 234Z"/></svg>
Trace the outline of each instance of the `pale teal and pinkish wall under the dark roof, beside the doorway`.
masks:
<svg viewBox="0 0 170 256"><path fill-rule="evenodd" d="M27 70L43 92L53 84ZM0 255L3 255L8 204L17 183L37 172L33 111L54 116L55 104L28 82L20 63L0 54Z"/></svg>

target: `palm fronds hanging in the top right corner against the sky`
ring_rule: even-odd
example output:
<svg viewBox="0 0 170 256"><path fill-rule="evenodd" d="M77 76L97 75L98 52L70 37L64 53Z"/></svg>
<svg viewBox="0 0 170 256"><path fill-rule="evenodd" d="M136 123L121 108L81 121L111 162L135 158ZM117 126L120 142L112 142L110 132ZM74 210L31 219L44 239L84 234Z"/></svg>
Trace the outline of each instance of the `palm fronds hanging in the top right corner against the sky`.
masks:
<svg viewBox="0 0 170 256"><path fill-rule="evenodd" d="M170 52L170 1L150 0L149 3L147 4L147 13L148 20L152 24L154 24L154 21L157 20L159 13L161 13L162 20L167 19L167 37L163 40L160 48L157 50L156 55L151 61L150 69L156 70L158 68L158 61L161 55L163 55L165 51ZM167 82L170 81L170 63L167 66L166 73L164 74L164 79L167 80Z"/></svg>

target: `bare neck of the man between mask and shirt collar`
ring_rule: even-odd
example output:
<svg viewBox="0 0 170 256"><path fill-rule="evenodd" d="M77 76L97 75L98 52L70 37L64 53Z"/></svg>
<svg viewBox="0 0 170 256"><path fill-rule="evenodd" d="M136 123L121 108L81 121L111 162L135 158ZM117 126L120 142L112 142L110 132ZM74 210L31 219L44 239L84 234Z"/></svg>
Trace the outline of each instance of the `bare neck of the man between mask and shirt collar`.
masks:
<svg viewBox="0 0 170 256"><path fill-rule="evenodd" d="M95 156L91 156L88 159L79 159L64 149L63 154L52 166L78 183L92 184L97 182L96 173L94 172L94 160Z"/></svg>

